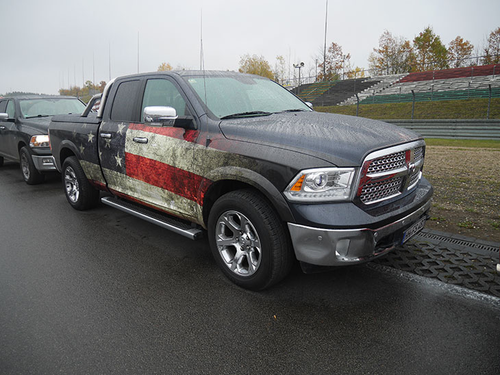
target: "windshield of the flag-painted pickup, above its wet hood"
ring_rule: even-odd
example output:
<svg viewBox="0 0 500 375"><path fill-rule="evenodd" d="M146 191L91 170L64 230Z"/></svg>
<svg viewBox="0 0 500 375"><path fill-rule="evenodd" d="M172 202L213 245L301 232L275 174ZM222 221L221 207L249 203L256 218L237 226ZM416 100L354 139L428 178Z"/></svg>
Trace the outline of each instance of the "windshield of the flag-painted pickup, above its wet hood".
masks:
<svg viewBox="0 0 500 375"><path fill-rule="evenodd" d="M310 107L270 79L248 75L184 77L218 118L263 116ZM205 95L206 90L206 95Z"/></svg>

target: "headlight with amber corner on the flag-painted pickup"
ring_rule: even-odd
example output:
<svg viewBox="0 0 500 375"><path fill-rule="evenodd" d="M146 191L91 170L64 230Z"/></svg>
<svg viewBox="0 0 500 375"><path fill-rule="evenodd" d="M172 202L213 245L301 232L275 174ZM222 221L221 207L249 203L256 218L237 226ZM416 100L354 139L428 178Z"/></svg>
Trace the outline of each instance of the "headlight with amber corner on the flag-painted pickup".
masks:
<svg viewBox="0 0 500 375"><path fill-rule="evenodd" d="M302 170L284 191L295 202L347 201L351 198L354 168Z"/></svg>

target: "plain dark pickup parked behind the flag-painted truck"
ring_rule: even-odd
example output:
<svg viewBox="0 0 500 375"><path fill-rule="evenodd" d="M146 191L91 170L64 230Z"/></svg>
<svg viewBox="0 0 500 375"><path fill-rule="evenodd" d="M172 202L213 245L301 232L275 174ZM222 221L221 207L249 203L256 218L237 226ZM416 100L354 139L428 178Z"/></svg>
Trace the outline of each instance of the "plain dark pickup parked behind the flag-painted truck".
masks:
<svg viewBox="0 0 500 375"><path fill-rule="evenodd" d="M33 185L55 171L47 129L54 114L81 114L73 96L12 96L0 99L0 166L3 158L18 161L26 183Z"/></svg>

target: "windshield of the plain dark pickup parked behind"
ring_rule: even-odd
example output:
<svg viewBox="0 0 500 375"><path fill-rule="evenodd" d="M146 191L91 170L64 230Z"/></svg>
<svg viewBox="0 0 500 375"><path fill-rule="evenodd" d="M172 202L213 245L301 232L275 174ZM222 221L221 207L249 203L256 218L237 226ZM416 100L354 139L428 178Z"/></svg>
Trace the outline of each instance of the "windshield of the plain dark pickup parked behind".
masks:
<svg viewBox="0 0 500 375"><path fill-rule="evenodd" d="M53 116L55 114L81 114L85 105L76 98L22 99L21 114L25 118Z"/></svg>

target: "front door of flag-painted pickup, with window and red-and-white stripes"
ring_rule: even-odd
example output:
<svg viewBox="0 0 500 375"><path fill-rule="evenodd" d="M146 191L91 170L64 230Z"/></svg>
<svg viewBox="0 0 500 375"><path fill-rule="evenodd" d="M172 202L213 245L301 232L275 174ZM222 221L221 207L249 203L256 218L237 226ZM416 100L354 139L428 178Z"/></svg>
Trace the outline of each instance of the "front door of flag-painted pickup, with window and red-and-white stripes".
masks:
<svg viewBox="0 0 500 375"><path fill-rule="evenodd" d="M198 131L145 122L143 118L145 107L173 107L177 116L190 116L192 108L182 90L168 77L147 79L138 103L138 121L123 128L124 153L112 155L116 162L123 157L125 170L120 185L112 189L171 214L195 218L201 183L192 170Z"/></svg>

